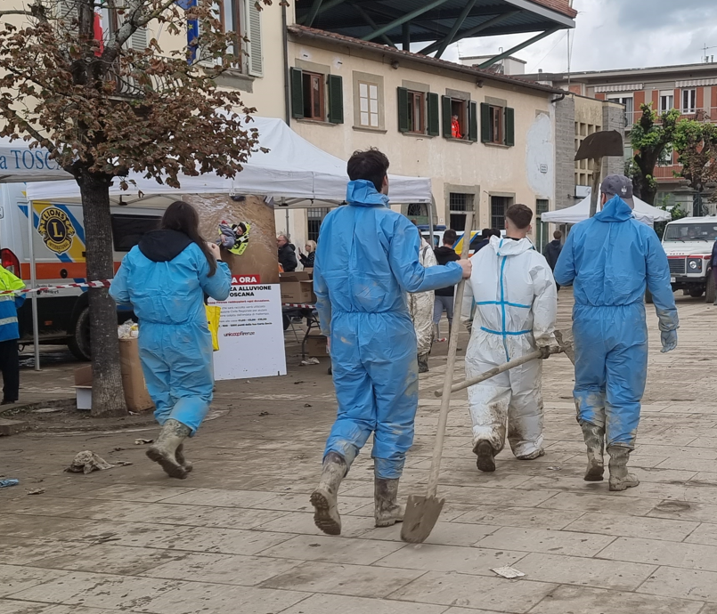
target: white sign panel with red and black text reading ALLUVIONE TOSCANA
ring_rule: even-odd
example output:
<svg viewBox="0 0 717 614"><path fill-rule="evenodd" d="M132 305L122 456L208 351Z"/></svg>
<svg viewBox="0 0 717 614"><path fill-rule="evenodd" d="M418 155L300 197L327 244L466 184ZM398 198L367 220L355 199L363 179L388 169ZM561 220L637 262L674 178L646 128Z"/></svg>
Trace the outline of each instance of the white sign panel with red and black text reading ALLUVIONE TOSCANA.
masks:
<svg viewBox="0 0 717 614"><path fill-rule="evenodd" d="M234 275L229 298L209 304L222 309L216 380L286 375L279 284L262 284L258 275Z"/></svg>

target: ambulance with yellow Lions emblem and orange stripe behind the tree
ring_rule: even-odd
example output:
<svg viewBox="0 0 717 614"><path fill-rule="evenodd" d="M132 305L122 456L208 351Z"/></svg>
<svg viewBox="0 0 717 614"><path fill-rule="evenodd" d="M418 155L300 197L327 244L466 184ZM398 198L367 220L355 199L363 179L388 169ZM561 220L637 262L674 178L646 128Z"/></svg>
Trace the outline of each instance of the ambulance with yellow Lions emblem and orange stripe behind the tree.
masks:
<svg viewBox="0 0 717 614"><path fill-rule="evenodd" d="M4 268L22 278L26 287L32 287L30 263L34 253L35 287L87 281L82 206L52 200L29 203L23 190L22 183L0 184L0 260ZM112 206L115 271L143 234L159 227L163 213L163 209ZM118 323L132 315L132 311L119 308ZM87 288L55 288L38 293L37 316L40 343L67 344L77 359L90 359ZM32 343L32 301L25 301L18 310L18 319L20 344Z"/></svg>

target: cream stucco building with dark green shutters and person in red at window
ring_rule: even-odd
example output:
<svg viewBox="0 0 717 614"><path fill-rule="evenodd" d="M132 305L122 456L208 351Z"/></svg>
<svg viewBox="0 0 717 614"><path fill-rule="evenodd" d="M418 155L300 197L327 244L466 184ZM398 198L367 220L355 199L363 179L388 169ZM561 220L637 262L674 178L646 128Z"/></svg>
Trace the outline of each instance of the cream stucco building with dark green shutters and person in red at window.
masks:
<svg viewBox="0 0 717 614"><path fill-rule="evenodd" d="M57 1L66 13L77 2ZM23 0L4 4L19 8ZM563 93L501 74L490 69L491 61L467 66L429 53L440 56L446 44L478 32L542 30L529 44L572 28L568 0L408 0L403 16L387 0L363 4L296 0L257 11L254 0L216 2L224 28L238 34L241 47L241 61L219 85L240 90L257 115L284 119L339 158L378 147L390 159L391 173L429 177L436 224L462 230L473 210L477 227L500 228L512 203L538 212L554 208L556 109ZM107 13L102 19L111 26L116 18ZM144 46L150 36L165 52L191 40L151 27L131 44ZM408 51L411 44L436 40L424 53ZM316 237L328 207L280 208L277 230L303 246ZM428 222L425 204L397 208Z"/></svg>

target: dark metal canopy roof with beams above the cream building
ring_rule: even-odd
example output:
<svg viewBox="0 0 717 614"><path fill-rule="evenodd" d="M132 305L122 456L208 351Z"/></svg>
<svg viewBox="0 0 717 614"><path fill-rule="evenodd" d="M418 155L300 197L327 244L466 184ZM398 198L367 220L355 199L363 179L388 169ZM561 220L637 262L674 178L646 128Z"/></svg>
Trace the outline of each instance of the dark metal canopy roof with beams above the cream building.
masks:
<svg viewBox="0 0 717 614"><path fill-rule="evenodd" d="M296 12L300 25L407 51L411 43L434 42L421 53L436 56L468 36L547 36L575 25L564 0L297 0Z"/></svg>

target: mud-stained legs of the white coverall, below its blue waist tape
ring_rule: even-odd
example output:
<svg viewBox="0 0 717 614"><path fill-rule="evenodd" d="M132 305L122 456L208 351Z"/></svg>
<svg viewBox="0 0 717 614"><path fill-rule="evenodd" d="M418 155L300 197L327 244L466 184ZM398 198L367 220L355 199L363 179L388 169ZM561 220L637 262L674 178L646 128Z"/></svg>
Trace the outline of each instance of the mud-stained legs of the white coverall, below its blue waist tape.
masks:
<svg viewBox="0 0 717 614"><path fill-rule="evenodd" d="M474 331L474 335L476 332ZM493 335L494 336L494 335ZM470 343L495 343L482 331ZM485 347L485 346L484 346ZM466 378L476 377L502 361L490 359L490 352L466 352ZM501 353L495 354L500 356ZM503 357L505 354L502 354ZM511 355L511 358L515 356ZM518 458L531 456L542 448L542 360L531 360L517 368L491 377L482 384L468 388L468 408L473 421L473 445L479 440L490 442L498 454L504 446L506 433L513 454Z"/></svg>

